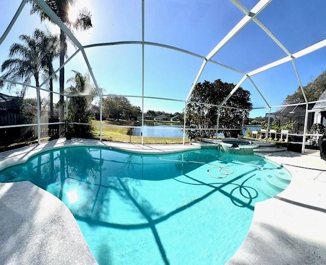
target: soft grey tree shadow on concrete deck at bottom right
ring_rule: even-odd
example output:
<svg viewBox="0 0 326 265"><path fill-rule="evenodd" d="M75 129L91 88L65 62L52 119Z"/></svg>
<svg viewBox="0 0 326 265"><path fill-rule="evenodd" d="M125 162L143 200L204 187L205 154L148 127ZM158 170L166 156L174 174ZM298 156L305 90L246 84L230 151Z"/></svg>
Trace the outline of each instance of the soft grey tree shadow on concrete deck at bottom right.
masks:
<svg viewBox="0 0 326 265"><path fill-rule="evenodd" d="M243 262L241 264L247 264L248 259L251 261L250 264L252 262L255 264L289 265L326 264L326 245L276 225L266 223L257 225L263 227L263 235L259 233L260 229L252 229L249 232L246 240L235 254L237 256L241 253L247 258L238 257L238 262ZM235 256L227 264L237 264Z"/></svg>

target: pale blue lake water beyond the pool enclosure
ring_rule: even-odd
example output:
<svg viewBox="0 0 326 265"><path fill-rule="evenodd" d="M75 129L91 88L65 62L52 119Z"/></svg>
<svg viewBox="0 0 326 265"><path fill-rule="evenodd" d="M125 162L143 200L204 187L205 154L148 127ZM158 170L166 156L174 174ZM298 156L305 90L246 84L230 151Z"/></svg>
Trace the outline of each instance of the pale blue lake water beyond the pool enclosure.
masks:
<svg viewBox="0 0 326 265"><path fill-rule="evenodd" d="M247 126L247 129L250 131L260 130L260 128L261 128L260 126ZM142 128L135 128L133 135L140 136L141 132L142 132ZM243 133L246 134L245 131ZM182 125L173 125L173 124L156 125L156 126L144 125L143 135L147 137L182 138L183 130L182 130ZM223 133L219 133L219 136L223 136ZM188 137L188 135L185 134L185 137Z"/></svg>

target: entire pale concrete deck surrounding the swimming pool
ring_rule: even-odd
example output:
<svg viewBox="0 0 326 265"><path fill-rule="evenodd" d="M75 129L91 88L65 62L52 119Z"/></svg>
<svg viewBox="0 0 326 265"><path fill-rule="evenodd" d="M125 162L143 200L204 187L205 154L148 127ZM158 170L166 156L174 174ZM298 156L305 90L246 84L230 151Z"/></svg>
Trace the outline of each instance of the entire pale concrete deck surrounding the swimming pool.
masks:
<svg viewBox="0 0 326 265"><path fill-rule="evenodd" d="M58 139L0 153L0 170L24 163L37 153L69 145L107 146L147 154L200 149L200 146L182 144L141 145ZM256 203L247 238L228 264L326 264L326 161L292 152L261 155L283 164L290 171L292 180L276 197ZM35 200L35 194L41 199ZM51 218L45 218L44 213L50 213ZM19 218L10 219L6 217L8 215ZM32 260L33 256L38 257L37 264L57 264L59 260L62 260L61 264L96 263L68 208L55 196L29 182L0 184L0 222L1 264L29 264L25 261ZM20 227L28 229L22 230L24 237ZM67 239L71 227L74 237ZM65 234L66 230L69 233ZM14 244L18 240L19 244ZM45 243L40 244L44 240ZM74 250L73 246L78 249ZM69 260L65 260L67 256Z"/></svg>

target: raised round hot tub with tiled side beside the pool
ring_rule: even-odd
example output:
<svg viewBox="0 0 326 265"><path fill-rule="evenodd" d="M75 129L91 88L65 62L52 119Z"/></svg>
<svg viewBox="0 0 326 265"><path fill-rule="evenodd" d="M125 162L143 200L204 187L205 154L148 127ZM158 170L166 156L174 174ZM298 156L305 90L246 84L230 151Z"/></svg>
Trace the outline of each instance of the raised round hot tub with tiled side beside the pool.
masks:
<svg viewBox="0 0 326 265"><path fill-rule="evenodd" d="M252 155L259 145L244 139L225 138L218 144L218 149L224 153L235 155Z"/></svg>

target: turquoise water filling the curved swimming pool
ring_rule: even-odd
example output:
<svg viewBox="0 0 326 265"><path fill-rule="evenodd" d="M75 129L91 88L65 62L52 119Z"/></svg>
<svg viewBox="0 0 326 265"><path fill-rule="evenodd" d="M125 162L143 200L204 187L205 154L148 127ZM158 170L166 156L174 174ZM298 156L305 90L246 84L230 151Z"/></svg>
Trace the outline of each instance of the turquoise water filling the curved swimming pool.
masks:
<svg viewBox="0 0 326 265"><path fill-rule="evenodd" d="M138 155L72 147L0 172L0 182L31 181L60 198L100 265L224 264L246 237L255 203L289 179L261 157L215 149Z"/></svg>

